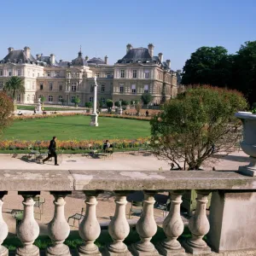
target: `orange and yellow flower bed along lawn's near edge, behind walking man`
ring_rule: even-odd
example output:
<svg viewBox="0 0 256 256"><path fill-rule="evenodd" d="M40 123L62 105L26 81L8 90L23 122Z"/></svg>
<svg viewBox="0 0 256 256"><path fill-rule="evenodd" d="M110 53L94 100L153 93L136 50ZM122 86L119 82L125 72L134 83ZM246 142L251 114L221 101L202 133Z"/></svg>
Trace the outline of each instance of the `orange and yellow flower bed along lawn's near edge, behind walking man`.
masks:
<svg viewBox="0 0 256 256"><path fill-rule="evenodd" d="M138 148L142 147L150 140L149 137L138 138L135 140L128 139L113 139L110 143L113 144L113 148ZM58 141L58 149L99 149L102 148L103 140L69 140L69 141ZM33 149L47 149L49 147L49 141L20 141L20 140L5 140L0 142L0 150L26 150L32 146Z"/></svg>

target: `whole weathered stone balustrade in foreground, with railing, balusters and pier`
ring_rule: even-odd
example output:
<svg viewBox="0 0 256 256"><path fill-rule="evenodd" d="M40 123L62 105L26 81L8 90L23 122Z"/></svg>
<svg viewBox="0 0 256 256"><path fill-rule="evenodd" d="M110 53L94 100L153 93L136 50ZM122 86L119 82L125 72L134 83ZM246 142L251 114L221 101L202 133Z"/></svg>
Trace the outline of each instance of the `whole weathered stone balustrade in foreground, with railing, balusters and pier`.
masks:
<svg viewBox="0 0 256 256"><path fill-rule="evenodd" d="M188 189L196 190L197 203L195 214L189 219L191 237L180 240L184 230L180 206L182 195ZM95 244L101 234L96 206L97 195L104 190L115 194L115 210L108 226L113 242L99 249ZM125 238L130 226L125 216L126 196L135 190L144 192L143 213L136 225L140 239L127 247ZM9 255L2 245L8 236L8 226L2 216L3 197L8 191L18 191L24 199L24 216L17 229L22 247L16 248L16 256L40 254L33 244L39 235L33 216L33 198L40 191L49 191L55 198L54 216L48 224L52 245L45 250L45 255L73 253L64 244L70 232L65 218L65 197L72 191L83 191L86 198L86 212L79 224L84 244L77 248L76 255L256 255L256 177L238 172L2 171L0 256ZM170 192L171 207L162 224L166 239L153 244L151 239L157 232L154 195L158 191ZM211 192L212 204L207 218L207 196ZM234 252L236 254L232 254Z"/></svg>

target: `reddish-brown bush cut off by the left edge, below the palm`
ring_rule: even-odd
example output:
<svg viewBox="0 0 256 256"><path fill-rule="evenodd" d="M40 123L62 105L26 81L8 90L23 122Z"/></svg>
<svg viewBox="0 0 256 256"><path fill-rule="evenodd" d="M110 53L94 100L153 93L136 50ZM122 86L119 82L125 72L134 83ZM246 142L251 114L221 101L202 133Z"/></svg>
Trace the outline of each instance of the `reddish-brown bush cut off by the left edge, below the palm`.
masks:
<svg viewBox="0 0 256 256"><path fill-rule="evenodd" d="M14 106L12 100L5 92L0 92L0 133L11 123L11 113Z"/></svg>

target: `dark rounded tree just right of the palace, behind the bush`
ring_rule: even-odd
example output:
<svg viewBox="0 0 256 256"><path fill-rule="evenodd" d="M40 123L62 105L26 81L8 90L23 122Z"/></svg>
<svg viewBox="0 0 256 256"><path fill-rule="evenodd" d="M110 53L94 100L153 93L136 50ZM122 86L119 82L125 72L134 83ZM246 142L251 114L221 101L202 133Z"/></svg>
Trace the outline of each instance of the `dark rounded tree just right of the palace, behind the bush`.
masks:
<svg viewBox="0 0 256 256"><path fill-rule="evenodd" d="M225 87L230 81L232 61L232 56L222 46L196 49L185 62L181 83Z"/></svg>

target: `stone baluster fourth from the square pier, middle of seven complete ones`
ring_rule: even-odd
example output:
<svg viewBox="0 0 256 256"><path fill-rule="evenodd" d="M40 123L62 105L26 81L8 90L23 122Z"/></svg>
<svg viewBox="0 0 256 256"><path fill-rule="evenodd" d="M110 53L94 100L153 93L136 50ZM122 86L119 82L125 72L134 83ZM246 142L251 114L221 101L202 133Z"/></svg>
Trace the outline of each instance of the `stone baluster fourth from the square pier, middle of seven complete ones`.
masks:
<svg viewBox="0 0 256 256"><path fill-rule="evenodd" d="M126 195L128 193L129 191L115 191L115 212L108 226L108 233L113 239L113 243L107 247L110 255L131 255L123 242L130 232L130 226L125 216Z"/></svg>

